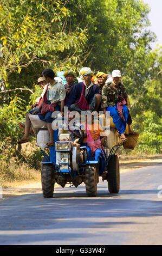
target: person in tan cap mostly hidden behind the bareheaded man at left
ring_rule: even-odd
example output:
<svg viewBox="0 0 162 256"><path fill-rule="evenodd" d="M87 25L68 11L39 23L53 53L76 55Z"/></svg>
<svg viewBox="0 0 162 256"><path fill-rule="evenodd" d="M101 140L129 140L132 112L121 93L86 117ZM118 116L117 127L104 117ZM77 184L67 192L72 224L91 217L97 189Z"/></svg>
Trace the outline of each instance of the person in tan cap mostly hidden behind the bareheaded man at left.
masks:
<svg viewBox="0 0 162 256"><path fill-rule="evenodd" d="M44 89L44 87L47 86L47 85L46 85L46 81L44 80L44 77L43 77L43 76L41 76L41 77L38 78L37 84L38 84L38 86L40 86L40 88L41 88L42 90ZM33 105L31 105L31 110L38 108L42 97L43 97L43 93L41 94L40 97L38 97L38 98L35 100L35 103L34 103ZM28 119L28 118L27 118L27 119ZM27 120L25 121L25 123L26 123L26 122L27 122ZM23 124L23 123L20 122L20 123L18 123L18 126L20 127L20 129L21 129L23 132L25 131L25 124ZM33 129L32 129L31 127L30 127L29 133L30 133L30 134L31 134L31 133L34 133L34 132L33 132Z"/></svg>

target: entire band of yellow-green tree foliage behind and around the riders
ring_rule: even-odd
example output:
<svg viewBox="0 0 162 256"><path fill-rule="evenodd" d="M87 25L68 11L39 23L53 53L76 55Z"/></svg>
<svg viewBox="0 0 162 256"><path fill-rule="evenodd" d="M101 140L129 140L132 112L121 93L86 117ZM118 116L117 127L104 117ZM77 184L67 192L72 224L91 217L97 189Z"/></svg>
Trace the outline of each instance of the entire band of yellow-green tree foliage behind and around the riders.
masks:
<svg viewBox="0 0 162 256"><path fill-rule="evenodd" d="M43 69L90 66L94 74L121 70L135 102L131 114L141 148L154 148L161 127L161 48L151 49L149 11L140 0L1 0L1 137L16 143L17 123L40 94L36 81Z"/></svg>

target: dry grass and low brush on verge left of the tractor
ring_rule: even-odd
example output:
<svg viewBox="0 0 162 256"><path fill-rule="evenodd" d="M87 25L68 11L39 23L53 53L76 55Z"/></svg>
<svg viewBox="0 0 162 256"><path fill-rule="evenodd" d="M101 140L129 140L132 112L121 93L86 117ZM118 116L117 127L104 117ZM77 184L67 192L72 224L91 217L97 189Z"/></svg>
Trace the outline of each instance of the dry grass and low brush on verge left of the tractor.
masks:
<svg viewBox="0 0 162 256"><path fill-rule="evenodd" d="M41 180L40 150L34 144L22 145L18 156L6 155L0 161L0 185L16 186Z"/></svg>

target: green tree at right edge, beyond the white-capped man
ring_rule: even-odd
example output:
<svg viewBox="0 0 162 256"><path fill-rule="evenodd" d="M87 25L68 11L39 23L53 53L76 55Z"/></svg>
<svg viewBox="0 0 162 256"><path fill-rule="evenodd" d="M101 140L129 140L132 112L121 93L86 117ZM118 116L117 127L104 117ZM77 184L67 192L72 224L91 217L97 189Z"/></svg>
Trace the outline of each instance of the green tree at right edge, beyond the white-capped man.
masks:
<svg viewBox="0 0 162 256"><path fill-rule="evenodd" d="M155 49L157 72L152 80L145 82L137 99L132 103L133 127L140 133L137 151L160 153L162 148L162 47Z"/></svg>

